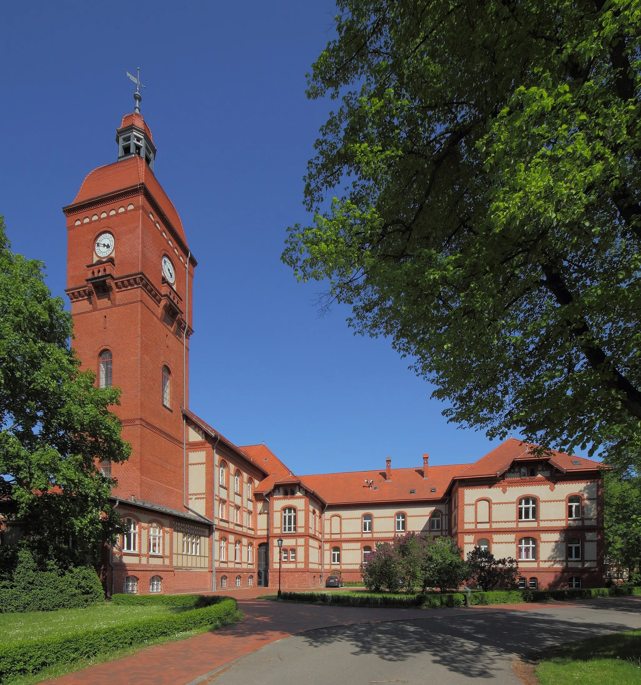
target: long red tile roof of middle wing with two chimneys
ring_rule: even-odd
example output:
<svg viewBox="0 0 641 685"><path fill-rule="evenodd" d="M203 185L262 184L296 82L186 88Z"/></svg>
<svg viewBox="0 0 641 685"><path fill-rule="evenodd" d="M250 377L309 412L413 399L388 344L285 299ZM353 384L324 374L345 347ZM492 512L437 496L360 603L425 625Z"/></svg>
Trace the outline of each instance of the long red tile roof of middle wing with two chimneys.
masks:
<svg viewBox="0 0 641 685"><path fill-rule="evenodd" d="M301 482L307 484L308 489L316 490L328 504L422 501L441 499L452 479L467 466L469 464L428 466L427 479L423 479L423 468L420 468L392 469L390 481L386 481L384 470L377 470L303 475ZM365 484L365 479L374 481L371 488ZM436 492L432 493L431 488L436 488ZM410 493L410 490L416 490L416 493Z"/></svg>

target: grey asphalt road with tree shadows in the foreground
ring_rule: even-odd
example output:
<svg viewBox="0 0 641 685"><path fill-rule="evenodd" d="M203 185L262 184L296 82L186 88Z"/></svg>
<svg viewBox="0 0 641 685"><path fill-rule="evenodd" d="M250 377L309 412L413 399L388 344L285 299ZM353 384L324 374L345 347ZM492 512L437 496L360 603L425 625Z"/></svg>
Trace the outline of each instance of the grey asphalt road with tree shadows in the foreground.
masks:
<svg viewBox="0 0 641 685"><path fill-rule="evenodd" d="M531 611L470 612L310 630L257 649L214 685L520 685L516 656L606 632L641 628L641 598Z"/></svg>

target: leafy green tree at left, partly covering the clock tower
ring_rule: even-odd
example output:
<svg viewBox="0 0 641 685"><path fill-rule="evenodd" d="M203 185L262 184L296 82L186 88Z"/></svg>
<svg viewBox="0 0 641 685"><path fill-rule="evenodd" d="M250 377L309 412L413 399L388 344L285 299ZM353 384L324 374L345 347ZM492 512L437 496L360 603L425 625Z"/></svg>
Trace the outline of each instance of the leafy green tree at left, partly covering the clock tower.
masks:
<svg viewBox="0 0 641 685"><path fill-rule="evenodd" d="M0 503L36 558L83 564L121 527L97 463L122 462L129 445L109 410L119 390L79 371L71 315L42 267L12 253L0 217ZM5 561L15 551L0 549Z"/></svg>

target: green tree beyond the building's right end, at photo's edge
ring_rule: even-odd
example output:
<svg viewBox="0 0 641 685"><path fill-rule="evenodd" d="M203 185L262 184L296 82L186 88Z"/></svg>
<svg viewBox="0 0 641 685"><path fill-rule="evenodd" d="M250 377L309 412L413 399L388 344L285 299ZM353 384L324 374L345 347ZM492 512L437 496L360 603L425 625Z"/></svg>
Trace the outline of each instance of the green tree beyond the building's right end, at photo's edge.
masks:
<svg viewBox="0 0 641 685"><path fill-rule="evenodd" d="M611 573L641 582L641 477L606 473L605 561Z"/></svg>

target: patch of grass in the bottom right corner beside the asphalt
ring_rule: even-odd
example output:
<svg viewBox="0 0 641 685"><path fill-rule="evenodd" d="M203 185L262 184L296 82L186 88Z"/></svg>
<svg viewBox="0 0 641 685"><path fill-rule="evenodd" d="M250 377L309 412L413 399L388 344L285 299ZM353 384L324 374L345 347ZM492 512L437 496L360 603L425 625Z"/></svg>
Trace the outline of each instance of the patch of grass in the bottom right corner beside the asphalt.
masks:
<svg viewBox="0 0 641 685"><path fill-rule="evenodd" d="M536 668L541 685L639 685L641 630L555 649Z"/></svg>

